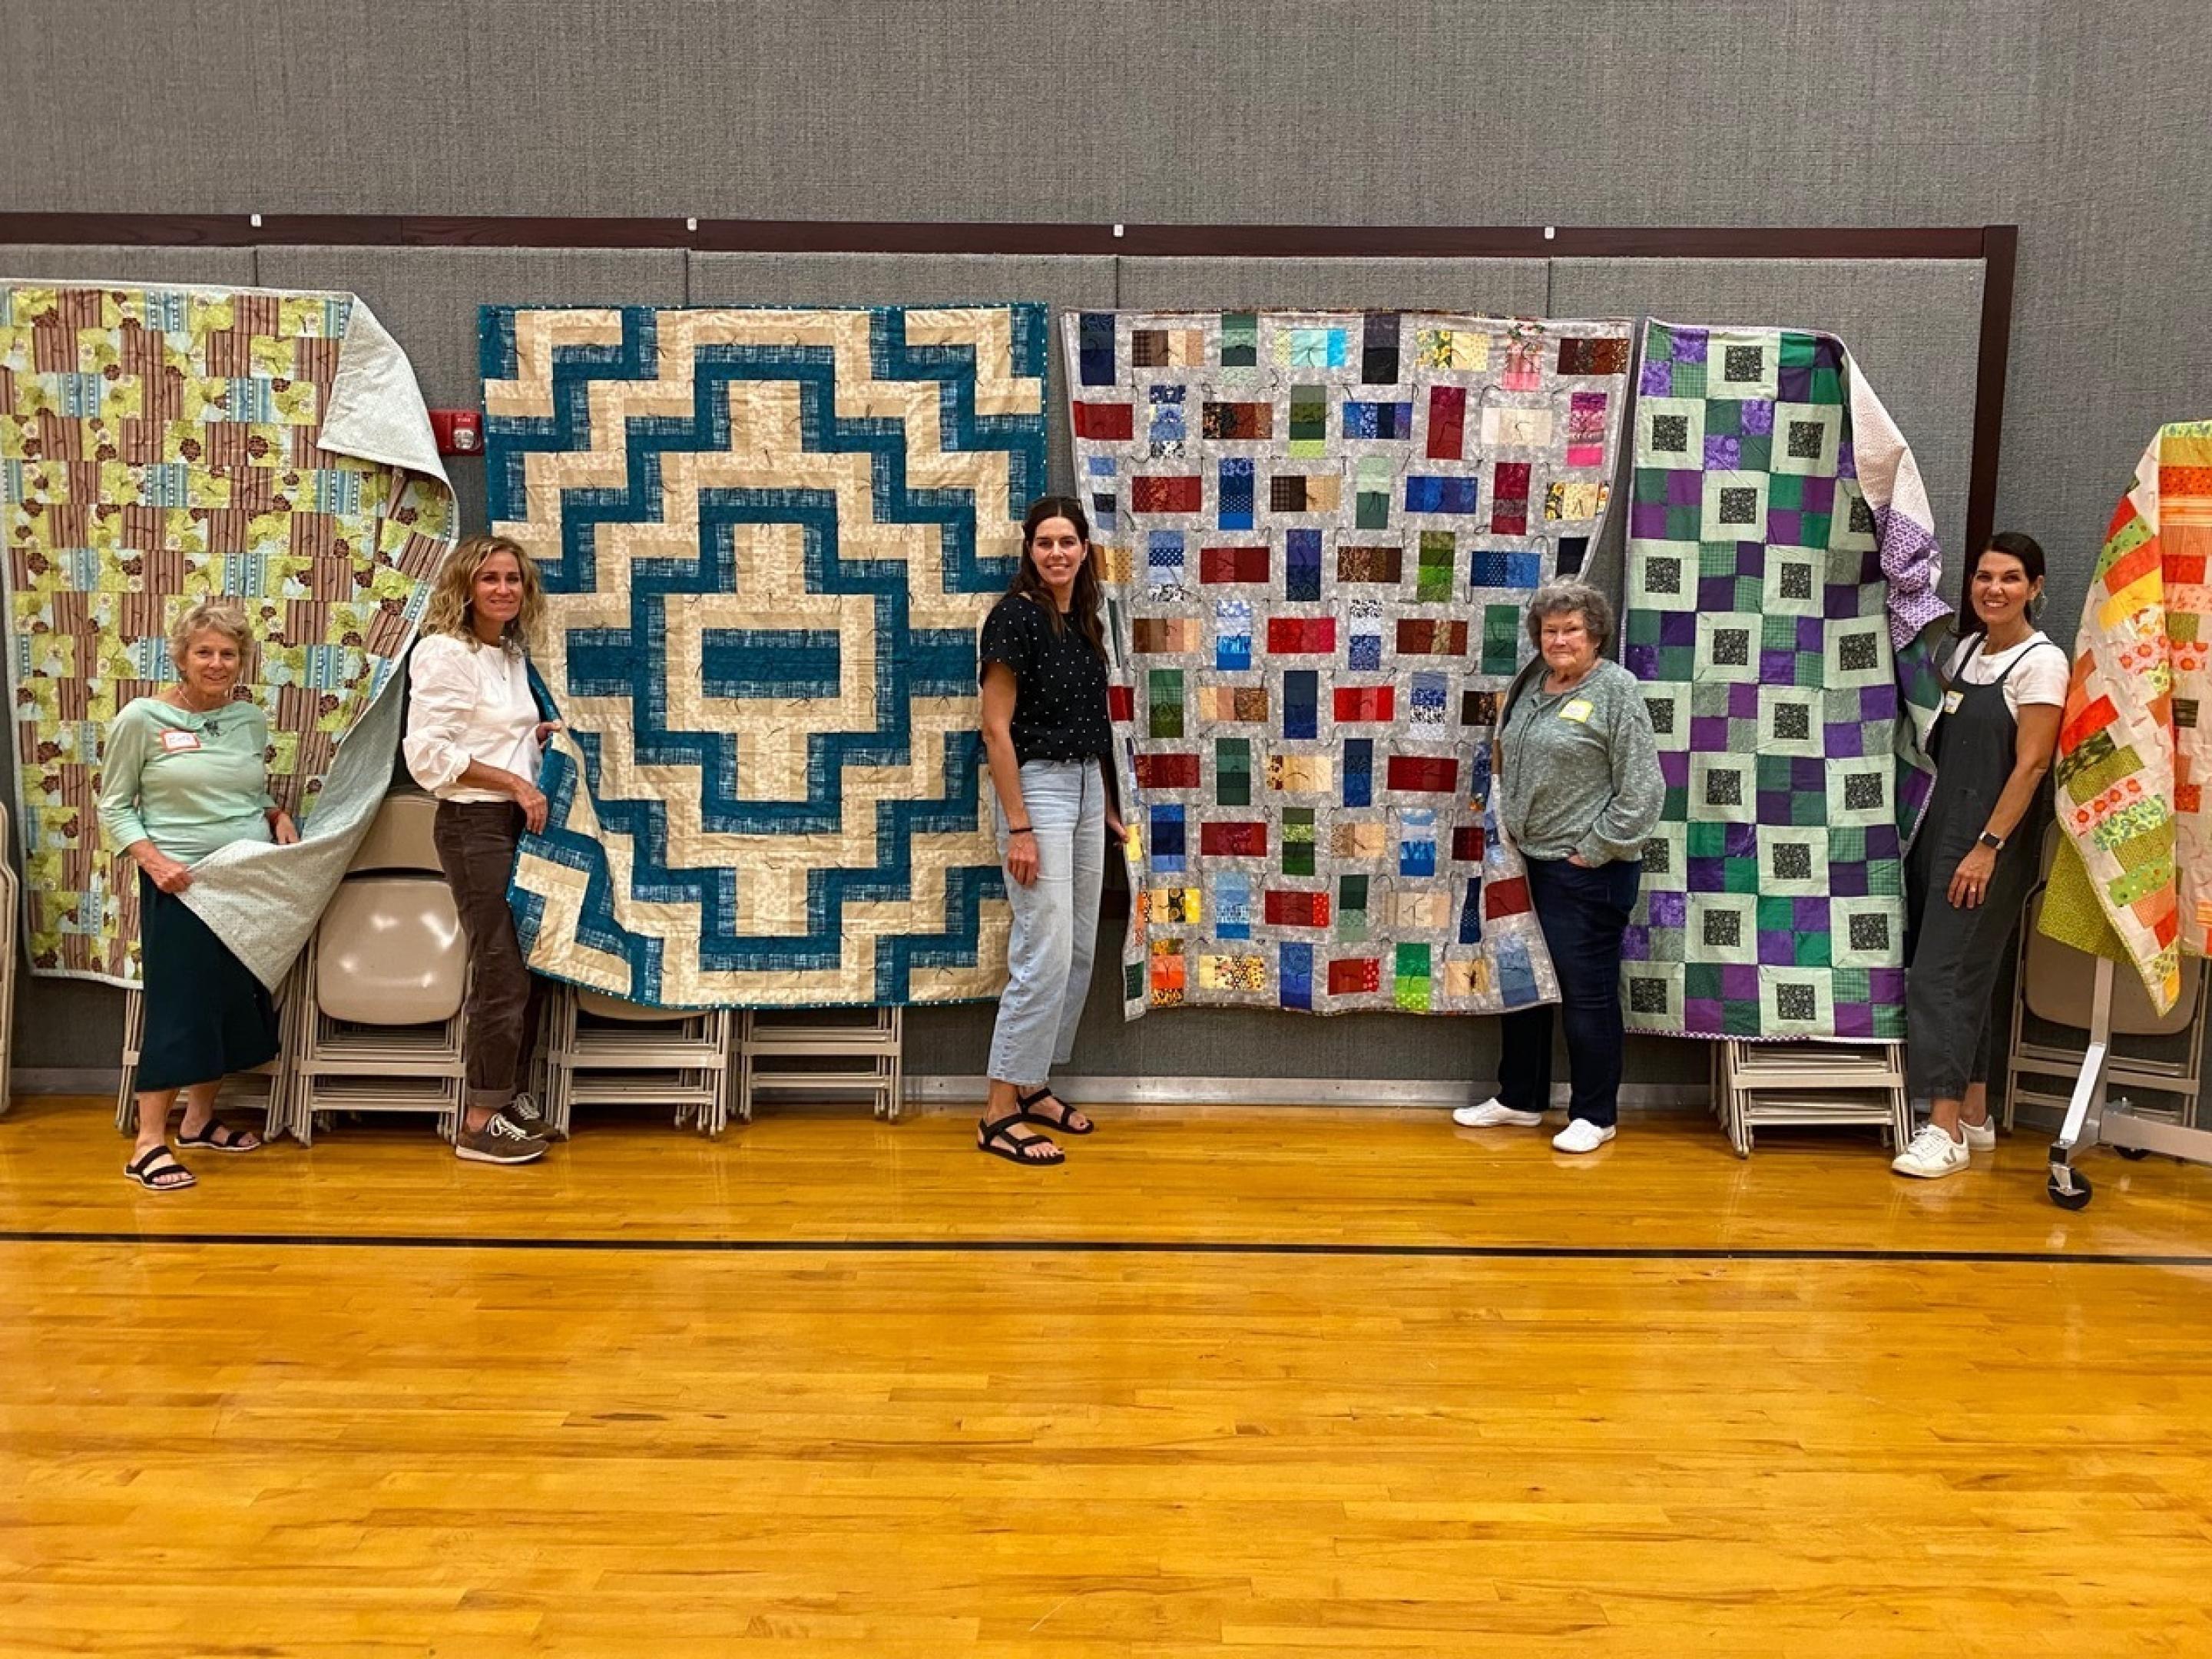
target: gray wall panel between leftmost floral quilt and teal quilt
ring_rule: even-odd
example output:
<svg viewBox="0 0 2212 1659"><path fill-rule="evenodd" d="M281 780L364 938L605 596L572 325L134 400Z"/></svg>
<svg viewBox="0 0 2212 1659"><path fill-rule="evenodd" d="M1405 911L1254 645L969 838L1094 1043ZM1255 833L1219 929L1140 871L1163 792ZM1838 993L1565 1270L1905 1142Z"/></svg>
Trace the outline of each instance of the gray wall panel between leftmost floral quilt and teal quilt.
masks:
<svg viewBox="0 0 2212 1659"><path fill-rule="evenodd" d="M677 248L263 248L263 288L361 294L405 347L429 407L473 409L478 305L681 305Z"/></svg>

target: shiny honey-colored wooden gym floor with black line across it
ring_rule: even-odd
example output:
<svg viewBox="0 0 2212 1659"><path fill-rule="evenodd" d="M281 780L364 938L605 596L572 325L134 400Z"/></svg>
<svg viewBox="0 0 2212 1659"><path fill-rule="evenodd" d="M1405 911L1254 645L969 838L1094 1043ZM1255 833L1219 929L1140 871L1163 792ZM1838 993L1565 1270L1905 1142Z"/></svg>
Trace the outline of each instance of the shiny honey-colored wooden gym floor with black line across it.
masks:
<svg viewBox="0 0 2212 1659"><path fill-rule="evenodd" d="M2205 1655L2212 1172L0 1119L0 1655ZM2197 1584L2197 1590L2188 1586Z"/></svg>

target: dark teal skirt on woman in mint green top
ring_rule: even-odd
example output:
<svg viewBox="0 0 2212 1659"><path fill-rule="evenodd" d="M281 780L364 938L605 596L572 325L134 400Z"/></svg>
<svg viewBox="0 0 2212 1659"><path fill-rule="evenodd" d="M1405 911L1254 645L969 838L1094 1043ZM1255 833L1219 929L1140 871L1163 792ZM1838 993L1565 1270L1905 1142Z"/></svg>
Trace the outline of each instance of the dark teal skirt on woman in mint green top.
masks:
<svg viewBox="0 0 2212 1659"><path fill-rule="evenodd" d="M274 1060L276 1004L192 909L139 872L146 1037L135 1088L190 1088Z"/></svg>

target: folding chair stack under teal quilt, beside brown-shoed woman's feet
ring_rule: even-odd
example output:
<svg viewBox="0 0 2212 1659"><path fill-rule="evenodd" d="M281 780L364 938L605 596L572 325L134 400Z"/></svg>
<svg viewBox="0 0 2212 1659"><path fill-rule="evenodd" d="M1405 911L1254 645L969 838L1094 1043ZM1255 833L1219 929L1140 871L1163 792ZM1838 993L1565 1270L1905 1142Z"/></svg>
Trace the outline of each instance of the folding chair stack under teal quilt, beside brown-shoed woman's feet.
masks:
<svg viewBox="0 0 2212 1659"><path fill-rule="evenodd" d="M734 1091L730 1009L648 1009L573 984L546 1018L546 1126L566 1137L575 1106L672 1106L677 1126L721 1135Z"/></svg>

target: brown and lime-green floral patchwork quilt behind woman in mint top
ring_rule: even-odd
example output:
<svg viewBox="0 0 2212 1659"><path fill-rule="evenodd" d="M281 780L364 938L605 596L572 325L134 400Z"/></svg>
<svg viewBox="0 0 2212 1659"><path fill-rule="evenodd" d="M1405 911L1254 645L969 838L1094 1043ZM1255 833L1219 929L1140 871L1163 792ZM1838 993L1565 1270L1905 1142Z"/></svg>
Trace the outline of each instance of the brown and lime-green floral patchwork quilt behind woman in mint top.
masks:
<svg viewBox="0 0 2212 1659"><path fill-rule="evenodd" d="M453 491L407 358L352 294L15 283L0 511L31 967L133 984L137 878L93 803L108 721L175 684L168 624L206 595L246 606L270 787L312 827L414 639ZM312 927L314 896L296 905Z"/></svg>

